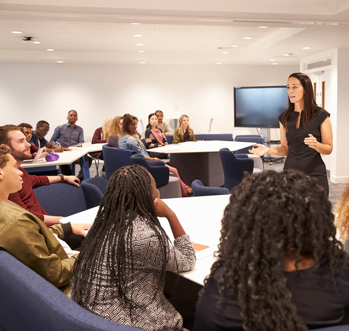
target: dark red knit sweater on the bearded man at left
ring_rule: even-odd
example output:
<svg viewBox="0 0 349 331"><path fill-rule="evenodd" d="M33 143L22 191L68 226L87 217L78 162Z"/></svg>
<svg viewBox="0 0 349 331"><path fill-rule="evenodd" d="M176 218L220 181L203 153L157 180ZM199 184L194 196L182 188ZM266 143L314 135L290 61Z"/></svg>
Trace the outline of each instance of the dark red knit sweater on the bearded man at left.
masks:
<svg viewBox="0 0 349 331"><path fill-rule="evenodd" d="M43 207L40 206L36 198L33 187L49 185L49 178L47 176L29 175L23 168L19 168L23 172L22 189L16 193L11 193L8 199L18 206L27 209L32 214L37 216L40 220L44 220L44 215L48 215Z"/></svg>

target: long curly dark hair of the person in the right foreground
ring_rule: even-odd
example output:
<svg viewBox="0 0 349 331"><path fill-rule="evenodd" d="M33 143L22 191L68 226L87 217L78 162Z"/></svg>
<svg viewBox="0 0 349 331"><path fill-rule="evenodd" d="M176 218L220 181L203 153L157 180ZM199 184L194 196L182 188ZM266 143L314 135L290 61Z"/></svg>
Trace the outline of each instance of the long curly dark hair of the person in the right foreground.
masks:
<svg viewBox="0 0 349 331"><path fill-rule="evenodd" d="M284 257L295 249L329 264L335 289L335 272L349 274L349 257L336 240L331 203L316 179L295 170L248 175L236 186L222 219L218 258L209 279L218 278L220 300L237 296L244 330L307 330L291 302L286 286ZM204 288L205 290L205 288Z"/></svg>

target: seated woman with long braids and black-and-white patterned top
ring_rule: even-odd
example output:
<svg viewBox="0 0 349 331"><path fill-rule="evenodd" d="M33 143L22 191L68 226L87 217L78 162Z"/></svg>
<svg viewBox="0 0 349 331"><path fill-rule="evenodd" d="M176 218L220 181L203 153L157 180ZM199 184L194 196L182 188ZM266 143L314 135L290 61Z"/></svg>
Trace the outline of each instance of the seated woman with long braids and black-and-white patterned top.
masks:
<svg viewBox="0 0 349 331"><path fill-rule="evenodd" d="M158 217L168 219L173 246ZM128 165L108 181L74 265L71 297L114 322L178 330L182 317L163 293L166 270L192 270L195 261L190 238L159 199L154 178L144 167Z"/></svg>

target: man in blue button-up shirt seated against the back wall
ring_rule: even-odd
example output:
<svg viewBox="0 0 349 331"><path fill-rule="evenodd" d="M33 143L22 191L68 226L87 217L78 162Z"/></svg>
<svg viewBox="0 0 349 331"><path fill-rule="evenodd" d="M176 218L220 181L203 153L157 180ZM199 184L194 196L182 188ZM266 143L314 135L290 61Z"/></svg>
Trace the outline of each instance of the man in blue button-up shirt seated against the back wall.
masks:
<svg viewBox="0 0 349 331"><path fill-rule="evenodd" d="M67 117L68 123L55 128L51 144L60 144L62 147L72 147L84 142L84 131L81 126L75 125L77 121L76 110L70 110Z"/></svg>

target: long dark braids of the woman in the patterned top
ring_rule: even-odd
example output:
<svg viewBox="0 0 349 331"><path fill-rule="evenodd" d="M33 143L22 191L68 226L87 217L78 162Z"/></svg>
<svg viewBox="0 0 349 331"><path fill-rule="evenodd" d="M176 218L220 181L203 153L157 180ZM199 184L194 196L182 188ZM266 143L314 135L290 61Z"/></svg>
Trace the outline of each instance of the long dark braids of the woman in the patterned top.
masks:
<svg viewBox="0 0 349 331"><path fill-rule="evenodd" d="M125 308L132 311L139 307L133 298L135 284L133 259L133 221L141 216L154 230L160 249L157 259L162 263L161 277L153 299L162 291L168 264L168 236L157 219L151 197L150 177L140 165L122 167L110 177L97 216L81 245L71 279L72 299L91 310L101 293L101 269L107 264L107 277L116 284ZM131 288L130 288L131 287Z"/></svg>

